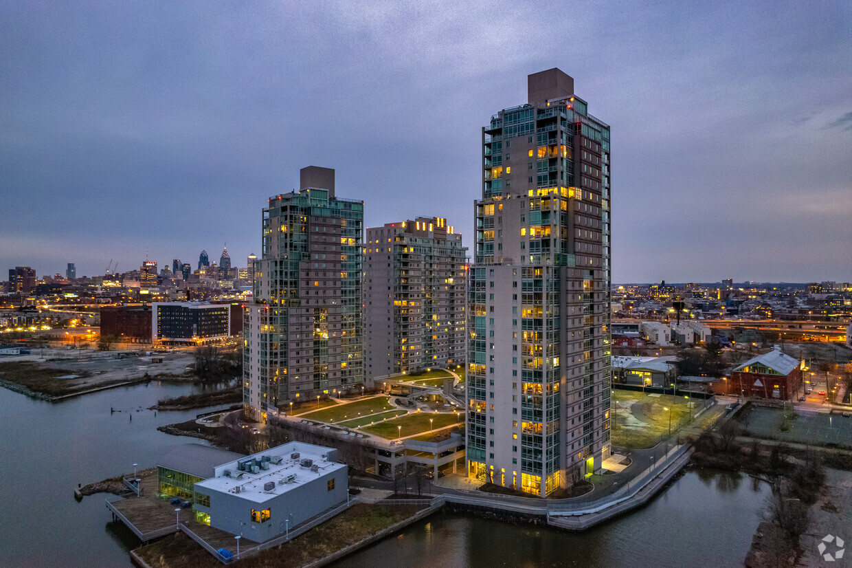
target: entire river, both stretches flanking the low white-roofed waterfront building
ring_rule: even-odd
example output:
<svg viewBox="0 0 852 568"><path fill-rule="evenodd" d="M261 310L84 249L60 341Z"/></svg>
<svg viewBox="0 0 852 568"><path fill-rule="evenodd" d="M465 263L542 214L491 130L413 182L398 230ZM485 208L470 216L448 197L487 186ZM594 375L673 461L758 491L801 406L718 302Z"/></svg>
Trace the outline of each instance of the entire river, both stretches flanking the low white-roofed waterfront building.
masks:
<svg viewBox="0 0 852 568"><path fill-rule="evenodd" d="M151 382L54 404L0 388L0 566L130 566L137 542L112 523L106 496L77 502L73 490L197 441L156 428L204 409L146 408L200 390ZM438 513L335 566L742 565L768 493L747 476L692 470L648 507L584 533Z"/></svg>

